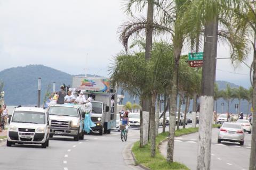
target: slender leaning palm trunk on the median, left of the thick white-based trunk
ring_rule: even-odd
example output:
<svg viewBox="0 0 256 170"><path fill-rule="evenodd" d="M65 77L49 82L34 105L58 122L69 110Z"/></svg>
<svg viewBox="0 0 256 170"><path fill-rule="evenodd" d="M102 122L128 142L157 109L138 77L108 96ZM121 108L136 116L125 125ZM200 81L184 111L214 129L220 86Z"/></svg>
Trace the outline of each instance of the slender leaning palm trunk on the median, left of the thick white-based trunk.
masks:
<svg viewBox="0 0 256 170"><path fill-rule="evenodd" d="M174 134L175 134L175 122L176 122L176 110L177 110L177 95L178 95L178 72L179 72L179 60L174 60L173 67L173 78L172 78L172 91L169 97L169 116L170 116L170 125L169 125L169 138L167 142L167 162L173 162L174 155Z"/></svg>

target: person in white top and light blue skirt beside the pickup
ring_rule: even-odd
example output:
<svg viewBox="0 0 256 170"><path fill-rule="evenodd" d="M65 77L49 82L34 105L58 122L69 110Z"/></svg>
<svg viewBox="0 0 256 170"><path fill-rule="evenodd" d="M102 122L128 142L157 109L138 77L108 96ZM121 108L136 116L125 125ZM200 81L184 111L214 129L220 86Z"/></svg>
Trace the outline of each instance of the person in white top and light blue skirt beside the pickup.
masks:
<svg viewBox="0 0 256 170"><path fill-rule="evenodd" d="M95 127L96 124L91 120L91 113L92 113L92 103L91 98L87 98L85 104L85 117L84 117L84 131L86 133L90 133L92 130L91 127Z"/></svg>

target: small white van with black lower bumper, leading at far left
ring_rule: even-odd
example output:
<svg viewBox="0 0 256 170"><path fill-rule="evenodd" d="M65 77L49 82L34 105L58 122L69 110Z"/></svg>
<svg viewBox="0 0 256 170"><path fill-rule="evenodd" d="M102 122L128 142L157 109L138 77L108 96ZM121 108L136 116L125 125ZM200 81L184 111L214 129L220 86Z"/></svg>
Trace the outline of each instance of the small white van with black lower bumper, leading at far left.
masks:
<svg viewBox="0 0 256 170"><path fill-rule="evenodd" d="M49 146L49 115L43 108L15 108L7 132L6 146L18 144L41 144Z"/></svg>

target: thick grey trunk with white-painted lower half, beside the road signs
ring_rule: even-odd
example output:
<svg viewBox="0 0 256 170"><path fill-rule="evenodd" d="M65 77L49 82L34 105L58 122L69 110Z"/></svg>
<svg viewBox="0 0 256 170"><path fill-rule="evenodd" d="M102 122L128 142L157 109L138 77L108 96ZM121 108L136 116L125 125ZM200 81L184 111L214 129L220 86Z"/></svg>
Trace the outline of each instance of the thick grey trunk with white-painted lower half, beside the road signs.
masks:
<svg viewBox="0 0 256 170"><path fill-rule="evenodd" d="M215 58L218 43L218 15L205 22L204 58L199 114L197 169L211 168L212 113L215 82Z"/></svg>

